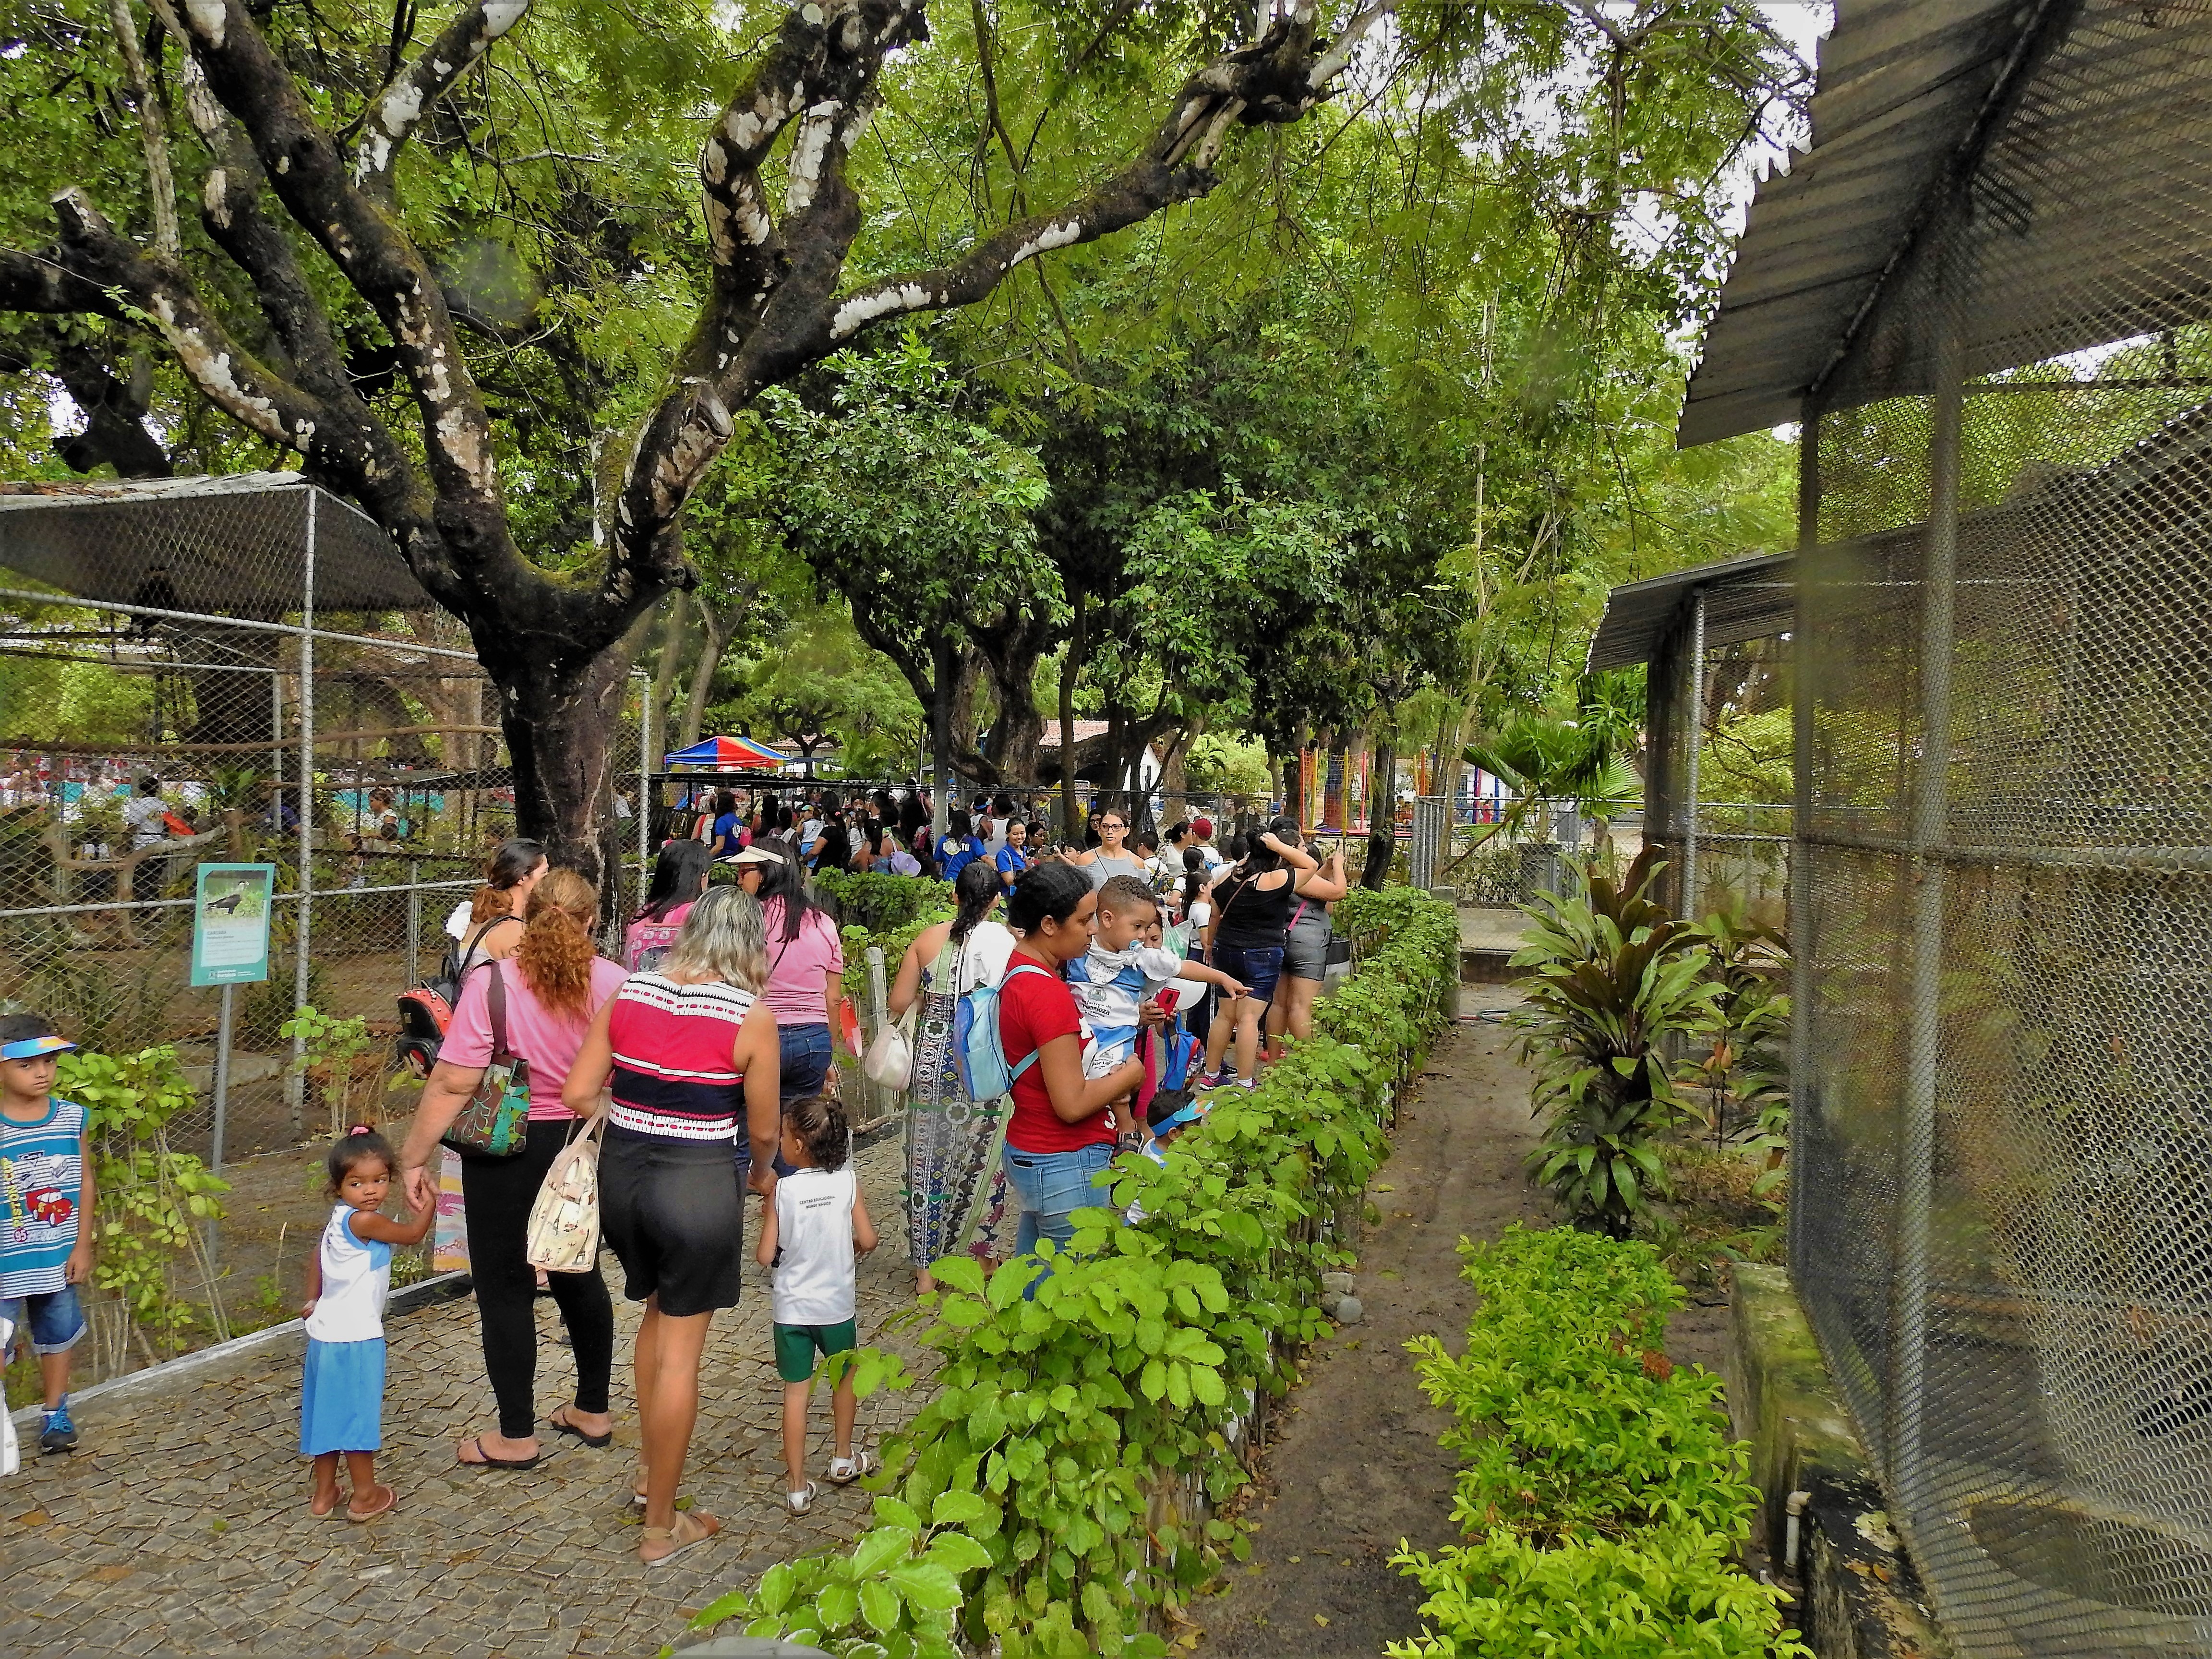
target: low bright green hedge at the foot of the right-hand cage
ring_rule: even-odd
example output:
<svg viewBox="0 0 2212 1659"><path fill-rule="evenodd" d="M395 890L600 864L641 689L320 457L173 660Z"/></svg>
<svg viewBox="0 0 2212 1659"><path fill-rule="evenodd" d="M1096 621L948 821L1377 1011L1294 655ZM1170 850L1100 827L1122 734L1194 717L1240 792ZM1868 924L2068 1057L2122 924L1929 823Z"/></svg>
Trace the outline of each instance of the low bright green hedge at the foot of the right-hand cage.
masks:
<svg viewBox="0 0 2212 1659"><path fill-rule="evenodd" d="M1433 1336L1422 1389L1458 1425L1453 1520L1471 1540L1400 1548L1429 1593L1400 1659L1809 1659L1781 1593L1734 1553L1759 1493L1728 1438L1721 1378L1666 1358L1683 1294L1646 1243L1506 1228L1460 1243L1480 1296L1458 1358Z"/></svg>

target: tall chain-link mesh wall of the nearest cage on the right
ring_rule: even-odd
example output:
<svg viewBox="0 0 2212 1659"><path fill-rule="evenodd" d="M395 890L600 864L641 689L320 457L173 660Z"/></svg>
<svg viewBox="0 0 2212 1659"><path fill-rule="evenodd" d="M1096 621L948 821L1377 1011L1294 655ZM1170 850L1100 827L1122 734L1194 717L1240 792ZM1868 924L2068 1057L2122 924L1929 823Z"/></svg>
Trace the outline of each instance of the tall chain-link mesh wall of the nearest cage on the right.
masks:
<svg viewBox="0 0 2212 1659"><path fill-rule="evenodd" d="M1958 1650L2150 1659L2212 1652L2212 13L2048 18L1809 409L1792 1261Z"/></svg>

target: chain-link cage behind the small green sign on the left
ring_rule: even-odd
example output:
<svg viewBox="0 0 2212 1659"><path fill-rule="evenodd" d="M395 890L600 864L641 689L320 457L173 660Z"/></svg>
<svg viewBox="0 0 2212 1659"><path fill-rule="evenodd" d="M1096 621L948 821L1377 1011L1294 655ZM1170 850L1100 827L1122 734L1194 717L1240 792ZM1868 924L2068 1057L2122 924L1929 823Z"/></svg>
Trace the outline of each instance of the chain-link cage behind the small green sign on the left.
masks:
<svg viewBox="0 0 2212 1659"><path fill-rule="evenodd" d="M281 1033L301 1004L369 1022L349 1093L380 1113L394 998L515 825L467 633L296 476L40 489L0 493L0 1002L86 1048L175 1044L199 1099L170 1144L206 1159L330 1133ZM639 684L611 734L630 812ZM641 891L622 845L617 914ZM276 889L270 978L232 993L221 1146L204 860L274 865Z"/></svg>

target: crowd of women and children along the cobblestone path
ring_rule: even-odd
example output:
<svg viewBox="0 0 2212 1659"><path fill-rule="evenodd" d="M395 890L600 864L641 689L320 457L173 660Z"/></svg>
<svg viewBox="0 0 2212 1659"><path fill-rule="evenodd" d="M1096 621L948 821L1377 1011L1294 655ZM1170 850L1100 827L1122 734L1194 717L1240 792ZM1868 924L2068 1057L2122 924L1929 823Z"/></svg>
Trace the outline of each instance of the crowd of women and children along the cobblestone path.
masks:
<svg viewBox="0 0 2212 1659"><path fill-rule="evenodd" d="M460 991L403 1144L363 1124L327 1155L332 1210L310 1270L301 1409L316 1515L343 1504L347 1520L367 1522L398 1502L374 1469L392 1248L422 1239L440 1144L456 1146L456 1124L502 1091L526 1093L520 1139L498 1152L456 1146L495 1405L456 1460L526 1471L546 1451L540 1425L584 1447L613 1442L611 1287L597 1263L544 1274L529 1261L533 1199L562 1150L593 1133L602 1241L622 1294L644 1303L630 1356L639 1559L657 1566L719 1531L679 1498L708 1327L743 1283L748 1194L761 1199L754 1259L770 1270L785 1380L785 1502L792 1513L812 1506L810 1389L821 1356L858 1345L856 1261L878 1239L838 1102L843 947L810 874L885 867L953 883L956 914L920 931L889 995L894 1015L914 1015L902 1221L922 1292L951 1254L995 1265L1044 1239L1064 1248L1075 1210L1106 1201L1117 1150L1161 1157L1214 1091L1252 1086L1279 1035L1305 1035L1345 872L1294 821L1217 852L1206 818L1164 841L1133 838L1126 814L1102 807L1084 845L1053 845L980 801L953 810L949 834L931 843L927 818L909 832L898 803L865 807L832 801L792 823L790 810L743 816L734 801L701 803L690 834L659 849L619 962L599 953L599 894L584 876L549 867L533 841L493 852L449 922ZM907 807L927 812L927 801ZM995 989L1011 1077L998 1099L971 1099L956 1060L960 1000L984 987ZM40 1152L53 1164L38 1259L0 1248L0 1321L24 1325L42 1356L49 1451L75 1444L69 1349L84 1332L75 1285L88 1252L75 1214L91 1203L82 1113L51 1099L53 1055L66 1046L35 1015L0 1031L0 1152L15 1168ZM1170 1064L1192 1048L1201 1062ZM407 1221L383 1214L394 1194ZM544 1418L540 1292L575 1358L573 1394ZM832 1389L832 1422L823 1478L845 1484L872 1467L854 1444L849 1376Z"/></svg>

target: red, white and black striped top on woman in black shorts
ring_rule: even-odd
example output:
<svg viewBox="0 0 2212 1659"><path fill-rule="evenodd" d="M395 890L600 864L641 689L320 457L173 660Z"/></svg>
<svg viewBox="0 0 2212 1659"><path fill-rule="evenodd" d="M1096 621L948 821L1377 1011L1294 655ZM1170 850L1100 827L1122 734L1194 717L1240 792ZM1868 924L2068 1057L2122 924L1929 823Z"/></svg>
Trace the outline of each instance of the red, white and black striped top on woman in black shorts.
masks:
<svg viewBox="0 0 2212 1659"><path fill-rule="evenodd" d="M606 1121L664 1141L730 1141L745 1117L745 1077L730 1062L752 991L723 980L677 984L633 973L615 991Z"/></svg>

